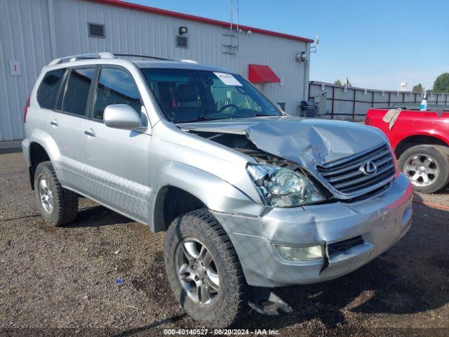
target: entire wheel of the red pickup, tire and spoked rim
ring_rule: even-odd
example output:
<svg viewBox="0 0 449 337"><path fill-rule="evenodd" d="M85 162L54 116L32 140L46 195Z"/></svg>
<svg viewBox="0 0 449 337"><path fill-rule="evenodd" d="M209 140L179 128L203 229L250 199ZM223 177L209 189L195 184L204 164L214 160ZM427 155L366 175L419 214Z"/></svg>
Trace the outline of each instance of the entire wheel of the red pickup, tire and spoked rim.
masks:
<svg viewBox="0 0 449 337"><path fill-rule="evenodd" d="M410 147L399 157L398 166L410 178L413 189L417 192L433 193L449 183L448 150L441 145Z"/></svg>

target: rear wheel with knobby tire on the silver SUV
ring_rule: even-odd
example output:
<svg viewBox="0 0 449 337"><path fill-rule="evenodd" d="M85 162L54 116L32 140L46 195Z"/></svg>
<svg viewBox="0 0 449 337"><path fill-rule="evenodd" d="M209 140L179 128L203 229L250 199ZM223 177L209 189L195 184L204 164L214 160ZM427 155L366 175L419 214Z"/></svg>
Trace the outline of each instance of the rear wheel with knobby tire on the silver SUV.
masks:
<svg viewBox="0 0 449 337"><path fill-rule="evenodd" d="M75 220L78 196L61 186L51 161L43 161L36 167L34 192L39 212L46 223L60 226Z"/></svg>

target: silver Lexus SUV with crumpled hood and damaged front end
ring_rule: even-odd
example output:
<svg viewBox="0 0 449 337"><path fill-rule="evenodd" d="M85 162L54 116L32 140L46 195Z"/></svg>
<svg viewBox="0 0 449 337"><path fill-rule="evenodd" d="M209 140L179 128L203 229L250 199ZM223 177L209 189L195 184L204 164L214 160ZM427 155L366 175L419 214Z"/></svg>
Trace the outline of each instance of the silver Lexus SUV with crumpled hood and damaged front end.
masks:
<svg viewBox="0 0 449 337"><path fill-rule="evenodd" d="M345 275L407 232L412 189L381 131L290 117L227 70L128 56L44 67L23 154L49 224L83 195L166 231L168 282L194 319L288 311L274 287Z"/></svg>

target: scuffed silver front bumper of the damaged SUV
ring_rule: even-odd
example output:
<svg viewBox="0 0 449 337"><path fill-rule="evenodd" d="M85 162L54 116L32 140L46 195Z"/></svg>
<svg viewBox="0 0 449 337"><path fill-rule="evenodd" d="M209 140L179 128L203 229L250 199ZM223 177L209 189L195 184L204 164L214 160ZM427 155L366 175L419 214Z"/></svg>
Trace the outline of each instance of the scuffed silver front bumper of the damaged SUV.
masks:
<svg viewBox="0 0 449 337"><path fill-rule="evenodd" d="M410 181L401 174L378 197L292 209L274 208L260 217L214 212L227 231L253 286L311 284L335 279L365 265L406 234L412 218ZM361 236L363 242L328 258L289 262L273 244L328 245Z"/></svg>

